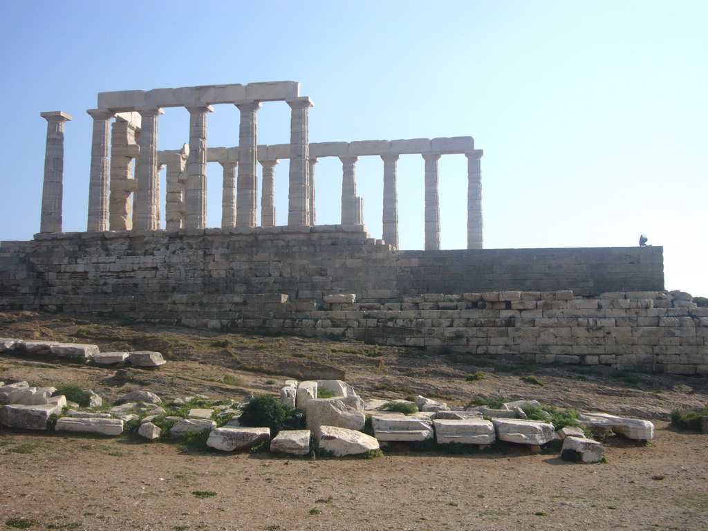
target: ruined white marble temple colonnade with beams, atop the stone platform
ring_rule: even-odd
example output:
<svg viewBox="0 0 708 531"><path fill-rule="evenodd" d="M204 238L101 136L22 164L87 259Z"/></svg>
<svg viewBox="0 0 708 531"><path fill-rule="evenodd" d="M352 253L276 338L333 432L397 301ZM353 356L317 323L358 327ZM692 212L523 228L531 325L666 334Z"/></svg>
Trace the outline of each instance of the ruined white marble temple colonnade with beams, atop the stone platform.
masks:
<svg viewBox="0 0 708 531"><path fill-rule="evenodd" d="M290 144L259 146L256 116L262 103L285 101L292 110ZM241 112L238 145L207 147L207 115L212 105L236 105ZM438 160L442 155L467 156L467 248L483 246L481 179L483 152L472 137L366 140L309 143L308 110L313 103L299 96L295 81L210 85L152 91L98 94L93 118L88 231L157 230L164 212L166 229L206 228L207 162L223 167L222 228L275 226L275 165L290 161L287 225L316 225L314 167L323 157L338 157L343 166L341 224L363 225L362 198L356 193L355 166L361 156L384 163L382 238L399 245L396 161L401 155L425 159L425 247L440 249ZM184 107L190 113L188 143L182 149L158 151L158 122L163 108ZM40 232L61 232L62 139L66 113L42 113L47 119L47 161ZM113 123L111 123L113 120ZM135 159L135 176L132 161ZM258 175L261 222L258 223ZM159 171L166 166L166 205L159 204ZM133 211L135 205L135 211Z"/></svg>

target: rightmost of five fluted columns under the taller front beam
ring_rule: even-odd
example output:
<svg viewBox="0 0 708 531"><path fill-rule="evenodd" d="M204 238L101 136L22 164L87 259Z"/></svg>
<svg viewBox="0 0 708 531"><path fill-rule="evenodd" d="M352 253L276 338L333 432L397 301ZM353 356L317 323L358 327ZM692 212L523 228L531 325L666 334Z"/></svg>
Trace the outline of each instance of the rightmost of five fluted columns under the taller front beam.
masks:
<svg viewBox="0 0 708 531"><path fill-rule="evenodd" d="M290 181L287 193L287 224L309 225L309 139L307 96L288 100L290 115Z"/></svg>

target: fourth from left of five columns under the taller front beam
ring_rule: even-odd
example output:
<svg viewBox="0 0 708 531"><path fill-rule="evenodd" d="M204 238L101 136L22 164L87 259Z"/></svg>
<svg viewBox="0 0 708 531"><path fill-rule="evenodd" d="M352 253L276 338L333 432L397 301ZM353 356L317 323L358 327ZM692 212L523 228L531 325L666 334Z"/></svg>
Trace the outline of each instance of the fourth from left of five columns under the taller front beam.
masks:
<svg viewBox="0 0 708 531"><path fill-rule="evenodd" d="M239 174L236 183L236 225L256 227L258 209L258 182L256 176L256 112L258 101L236 105L241 111L239 125Z"/></svg>

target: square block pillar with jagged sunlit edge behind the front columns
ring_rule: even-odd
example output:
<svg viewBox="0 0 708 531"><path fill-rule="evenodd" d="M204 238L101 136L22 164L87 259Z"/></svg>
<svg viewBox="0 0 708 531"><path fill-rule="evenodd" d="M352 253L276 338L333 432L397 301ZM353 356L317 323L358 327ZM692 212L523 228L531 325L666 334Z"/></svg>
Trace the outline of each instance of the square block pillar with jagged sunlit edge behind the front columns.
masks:
<svg viewBox="0 0 708 531"><path fill-rule="evenodd" d="M132 229L131 195L137 190L137 182L132 178L132 161L140 152L135 143L139 130L138 113L119 113L111 127L108 222L112 231Z"/></svg>

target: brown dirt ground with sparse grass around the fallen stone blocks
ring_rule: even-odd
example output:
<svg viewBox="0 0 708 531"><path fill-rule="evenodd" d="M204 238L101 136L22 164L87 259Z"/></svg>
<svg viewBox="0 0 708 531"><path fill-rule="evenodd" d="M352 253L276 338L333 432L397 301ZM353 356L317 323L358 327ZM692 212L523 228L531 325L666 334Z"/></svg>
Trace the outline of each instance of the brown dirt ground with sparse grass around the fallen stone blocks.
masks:
<svg viewBox="0 0 708 531"><path fill-rule="evenodd" d="M705 378L33 312L0 314L0 337L148 348L170 359L116 377L115 368L0 355L1 381L75 383L109 401L132 389L241 399L330 367L365 399L533 398L657 427L646 446L608 438L608 462L592 465L515 445L471 455L399 446L377 459L311 461L0 427L0 530L15 529L13 518L38 530L708 530L708 436L667 422L672 409L708 402ZM478 370L483 379L466 381ZM523 382L527 375L544 385Z"/></svg>

